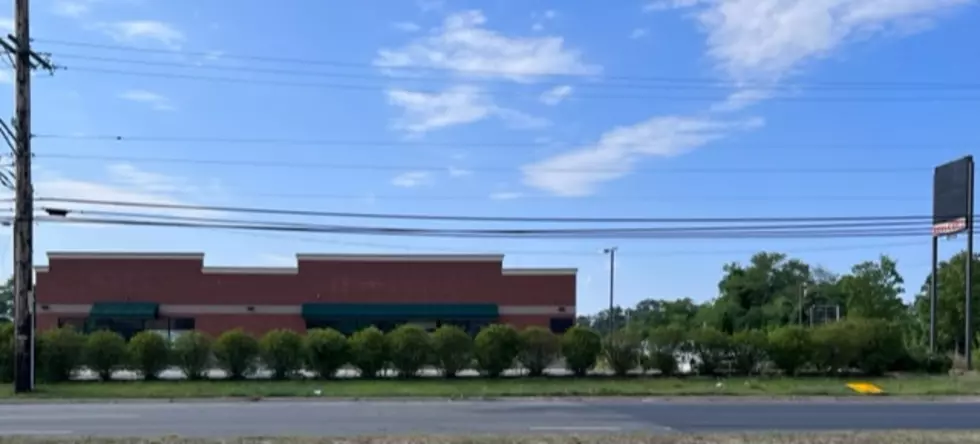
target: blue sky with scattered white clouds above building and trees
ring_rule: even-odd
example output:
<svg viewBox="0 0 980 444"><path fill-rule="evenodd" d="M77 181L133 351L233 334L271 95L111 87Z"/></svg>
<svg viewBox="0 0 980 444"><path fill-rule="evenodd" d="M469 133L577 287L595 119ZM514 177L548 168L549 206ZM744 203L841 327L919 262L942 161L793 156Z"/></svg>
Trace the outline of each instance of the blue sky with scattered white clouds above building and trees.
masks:
<svg viewBox="0 0 980 444"><path fill-rule="evenodd" d="M976 101L948 100L980 97L970 0L32 8L35 49L67 67L35 78L40 197L494 216L925 215L932 167L980 141ZM124 140L93 137L103 135ZM799 171L846 168L901 171ZM623 304L709 299L724 263L763 249L838 272L887 253L912 290L929 262L925 238L469 241L46 225L37 236L41 263L50 250L204 251L220 265L283 265L296 252L502 252L508 266L578 267L583 313L606 303L600 250L610 244Z"/></svg>

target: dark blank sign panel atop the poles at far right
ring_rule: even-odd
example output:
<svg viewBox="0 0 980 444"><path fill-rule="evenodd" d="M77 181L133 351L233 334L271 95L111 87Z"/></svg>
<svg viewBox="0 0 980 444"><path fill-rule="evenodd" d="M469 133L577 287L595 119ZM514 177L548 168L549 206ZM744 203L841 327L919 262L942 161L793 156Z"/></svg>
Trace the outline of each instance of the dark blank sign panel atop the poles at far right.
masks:
<svg viewBox="0 0 980 444"><path fill-rule="evenodd" d="M970 214L973 156L936 167L932 182L932 235L966 231Z"/></svg>

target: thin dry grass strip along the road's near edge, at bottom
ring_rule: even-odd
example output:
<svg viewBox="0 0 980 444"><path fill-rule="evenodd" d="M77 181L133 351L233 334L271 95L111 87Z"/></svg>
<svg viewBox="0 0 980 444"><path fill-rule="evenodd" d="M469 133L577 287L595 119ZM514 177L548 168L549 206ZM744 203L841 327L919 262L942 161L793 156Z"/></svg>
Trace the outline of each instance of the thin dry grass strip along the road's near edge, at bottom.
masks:
<svg viewBox="0 0 980 444"><path fill-rule="evenodd" d="M359 438L0 437L0 444L975 444L980 432L762 433L737 435L378 436Z"/></svg>

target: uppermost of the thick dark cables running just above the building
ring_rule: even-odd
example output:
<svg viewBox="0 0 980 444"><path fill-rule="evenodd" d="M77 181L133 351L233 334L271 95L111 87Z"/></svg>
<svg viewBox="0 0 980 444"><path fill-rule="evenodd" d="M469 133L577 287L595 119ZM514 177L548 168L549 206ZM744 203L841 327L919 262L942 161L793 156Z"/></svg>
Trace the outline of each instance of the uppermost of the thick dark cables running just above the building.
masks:
<svg viewBox="0 0 980 444"><path fill-rule="evenodd" d="M36 202L55 202L67 204L101 205L129 208L154 208L167 210L208 211L222 213L267 214L282 216L333 217L349 219L388 219L425 220L452 222L525 222L525 223L650 223L650 224L731 224L731 223L885 223L911 222L928 226L932 216L815 216L815 217L727 217L727 218L654 218L654 217L504 217L504 216L459 216L433 214L394 214L394 213L351 213L317 210L294 210L278 208L257 208L238 206L167 204L154 202L126 202L117 200L38 198Z"/></svg>

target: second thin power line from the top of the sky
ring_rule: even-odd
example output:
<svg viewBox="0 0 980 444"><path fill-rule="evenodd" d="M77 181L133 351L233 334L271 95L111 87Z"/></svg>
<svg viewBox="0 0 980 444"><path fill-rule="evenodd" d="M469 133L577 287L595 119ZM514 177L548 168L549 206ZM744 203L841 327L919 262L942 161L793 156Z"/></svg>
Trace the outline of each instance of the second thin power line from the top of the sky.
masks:
<svg viewBox="0 0 980 444"><path fill-rule="evenodd" d="M109 69L109 68L99 68L90 66L72 66L66 67L68 72L91 72L98 74L107 75L119 75L119 76L131 76L131 77L147 77L147 78L162 78L162 79L172 79L172 80L194 80L202 82L213 82L221 84L246 84L246 85L268 85L268 86L283 86L283 87L297 87L297 88L317 88L317 89L329 89L329 90L340 90L340 91L350 91L350 92L379 92L390 89L390 86L385 85L352 85L352 84L338 84L338 83L325 83L325 82L293 82L293 81L280 81L280 80L258 80L249 79L242 77L221 77L221 76L201 76L194 74L176 74L176 73L163 73L163 72L149 72L149 71L131 71L122 69ZM413 88L413 92L419 93L429 93L437 94L442 93L441 90L420 90ZM485 93L476 93L485 94ZM497 93L499 94L499 93ZM526 95L526 93L521 93L520 95ZM718 101L718 95L706 95L706 96L652 96L652 95L637 95L637 94L626 94L626 95L589 95L589 94L576 94L576 99L623 99L623 100L662 100L662 101L677 101L677 102L716 102ZM787 103L906 103L906 102L978 102L980 101L980 96L967 97L962 95L948 96L948 97L937 97L937 96L908 96L908 97L855 97L855 96L840 96L840 97L798 97L798 96L769 96L766 98L769 102L787 102Z"/></svg>

